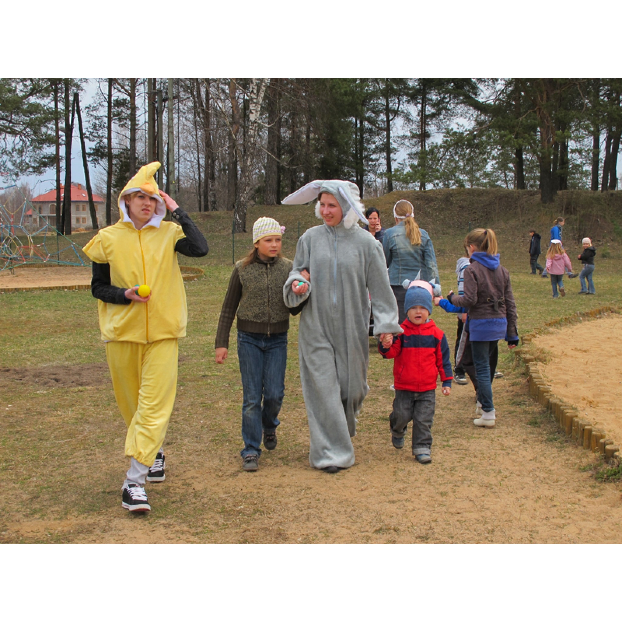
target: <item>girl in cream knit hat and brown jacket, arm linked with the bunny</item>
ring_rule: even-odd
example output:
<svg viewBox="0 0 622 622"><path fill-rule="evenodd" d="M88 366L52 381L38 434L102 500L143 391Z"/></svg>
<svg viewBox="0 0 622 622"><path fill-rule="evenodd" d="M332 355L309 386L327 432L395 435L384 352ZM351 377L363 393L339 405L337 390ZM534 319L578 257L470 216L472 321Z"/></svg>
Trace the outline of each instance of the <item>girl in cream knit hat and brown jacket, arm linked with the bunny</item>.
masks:
<svg viewBox="0 0 622 622"><path fill-rule="evenodd" d="M253 249L235 264L216 332L216 363L224 363L237 313L244 471L258 470L262 437L266 449L276 448L285 394L289 315L302 309L288 309L283 302L283 285L292 269L292 261L281 256L284 230L274 218L255 222Z"/></svg>

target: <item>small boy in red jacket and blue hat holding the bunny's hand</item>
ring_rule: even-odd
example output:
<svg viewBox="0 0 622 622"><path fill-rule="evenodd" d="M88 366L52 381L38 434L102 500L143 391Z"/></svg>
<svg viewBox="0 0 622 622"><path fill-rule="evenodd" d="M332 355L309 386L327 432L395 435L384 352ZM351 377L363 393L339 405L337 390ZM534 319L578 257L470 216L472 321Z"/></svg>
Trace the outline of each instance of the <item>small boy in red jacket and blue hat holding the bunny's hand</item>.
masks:
<svg viewBox="0 0 622 622"><path fill-rule="evenodd" d="M452 391L452 362L445 333L433 320L432 286L412 281L406 291L404 332L384 336L378 344L383 358L395 359L395 399L391 423L393 447L404 447L404 435L412 420L412 455L417 462L432 462L432 422L436 404L436 383L440 374L443 395Z"/></svg>

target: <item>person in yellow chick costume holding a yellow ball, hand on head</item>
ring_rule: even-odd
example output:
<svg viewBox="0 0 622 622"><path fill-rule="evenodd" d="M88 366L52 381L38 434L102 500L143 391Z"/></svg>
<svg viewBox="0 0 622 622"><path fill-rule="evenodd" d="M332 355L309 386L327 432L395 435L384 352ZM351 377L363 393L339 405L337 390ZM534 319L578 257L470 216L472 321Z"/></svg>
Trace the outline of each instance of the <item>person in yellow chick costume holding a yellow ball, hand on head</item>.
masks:
<svg viewBox="0 0 622 622"><path fill-rule="evenodd" d="M143 166L119 195L121 218L83 248L93 261L91 293L98 299L101 338L114 397L128 426L131 465L122 488L123 508L149 511L146 481L164 480L162 442L177 391L177 340L185 337L188 307L177 253L203 257L203 234ZM163 218L166 210L173 221ZM151 293L141 297L138 285Z"/></svg>

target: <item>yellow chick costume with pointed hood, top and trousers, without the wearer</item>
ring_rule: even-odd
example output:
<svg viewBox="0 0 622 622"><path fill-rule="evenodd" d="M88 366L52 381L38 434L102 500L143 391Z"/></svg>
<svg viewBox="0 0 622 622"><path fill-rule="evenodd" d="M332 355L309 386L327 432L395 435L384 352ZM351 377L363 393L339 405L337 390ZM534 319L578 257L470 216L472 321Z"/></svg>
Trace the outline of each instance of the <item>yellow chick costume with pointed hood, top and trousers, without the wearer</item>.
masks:
<svg viewBox="0 0 622 622"><path fill-rule="evenodd" d="M151 287L145 303L98 300L114 397L128 425L125 453L147 466L156 460L169 424L177 390L177 339L185 337L188 321L175 253L185 235L177 223L162 220L166 206L154 179L159 167L159 162L147 164L129 180L119 195L119 221L83 248L93 262L109 265L112 285ZM129 218L124 198L138 191L157 200L151 220L140 230Z"/></svg>

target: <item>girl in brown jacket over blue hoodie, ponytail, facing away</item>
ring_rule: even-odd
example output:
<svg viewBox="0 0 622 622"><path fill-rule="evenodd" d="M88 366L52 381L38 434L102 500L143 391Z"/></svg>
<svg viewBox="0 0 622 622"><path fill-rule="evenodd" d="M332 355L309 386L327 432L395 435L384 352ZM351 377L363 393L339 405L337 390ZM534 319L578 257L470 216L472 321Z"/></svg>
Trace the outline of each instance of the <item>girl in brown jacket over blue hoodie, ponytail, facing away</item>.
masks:
<svg viewBox="0 0 622 622"><path fill-rule="evenodd" d="M478 418L473 423L478 427L494 427L491 356L499 339L505 339L510 350L518 345L516 303L509 272L499 262L494 231L474 229L466 236L465 246L471 259L464 274L465 293L457 296L449 292L447 299L457 307L468 309L469 339L478 383L475 409Z"/></svg>

